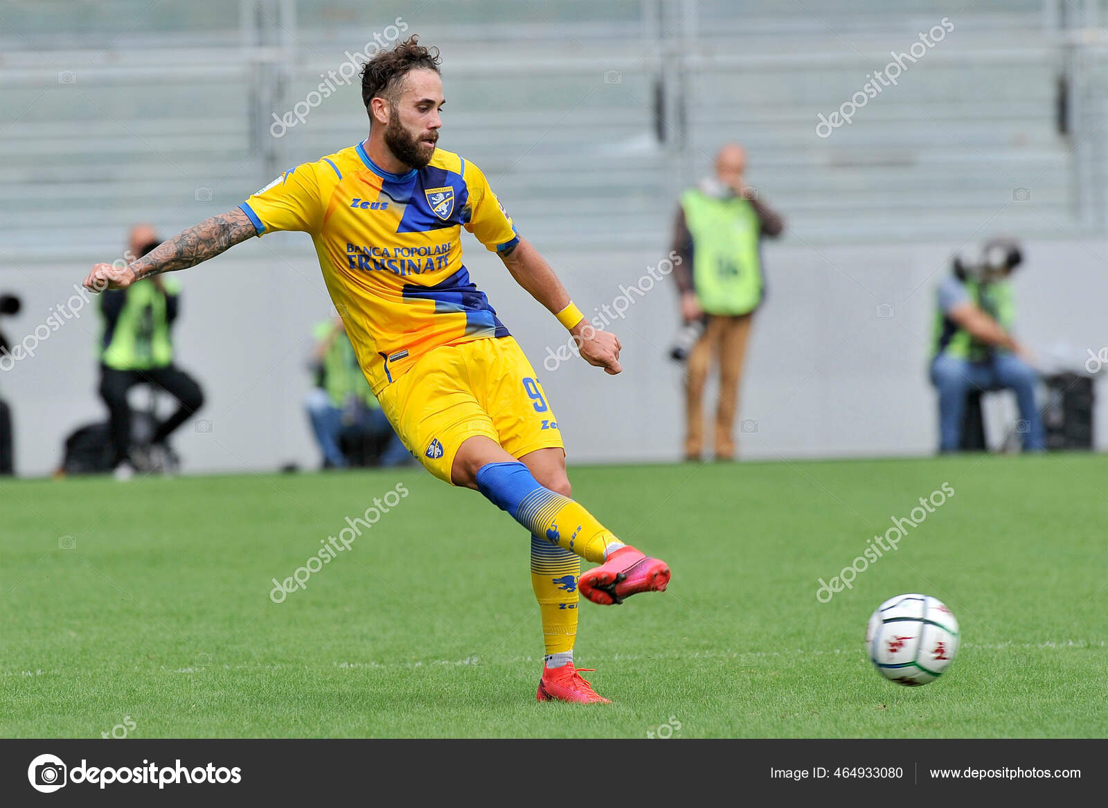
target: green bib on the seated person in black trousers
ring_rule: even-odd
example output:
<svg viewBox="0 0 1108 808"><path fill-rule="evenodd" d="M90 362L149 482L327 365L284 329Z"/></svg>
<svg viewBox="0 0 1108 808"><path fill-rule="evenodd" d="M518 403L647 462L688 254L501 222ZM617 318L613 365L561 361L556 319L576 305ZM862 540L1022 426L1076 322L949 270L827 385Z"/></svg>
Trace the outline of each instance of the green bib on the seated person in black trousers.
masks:
<svg viewBox="0 0 1108 808"><path fill-rule="evenodd" d="M162 282L168 294L176 294L177 285L166 278ZM170 321L165 314L165 295L151 280L140 280L129 286L126 303L115 321L111 342L104 345L107 330L103 323L100 339L100 360L116 370L148 370L162 368L173 361L173 341Z"/></svg>

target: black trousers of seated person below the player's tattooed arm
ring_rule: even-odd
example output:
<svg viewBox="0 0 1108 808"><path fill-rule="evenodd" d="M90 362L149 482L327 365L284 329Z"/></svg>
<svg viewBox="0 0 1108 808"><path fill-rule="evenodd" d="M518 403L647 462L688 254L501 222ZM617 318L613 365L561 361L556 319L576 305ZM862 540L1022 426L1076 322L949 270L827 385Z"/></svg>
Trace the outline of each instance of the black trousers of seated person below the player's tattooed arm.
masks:
<svg viewBox="0 0 1108 808"><path fill-rule="evenodd" d="M176 412L157 425L152 441L154 443L164 442L177 427L204 406L204 391L201 390L201 386L192 376L173 365L148 370L116 370L101 365L100 397L107 405L115 463L127 457L131 442L131 405L127 403L127 390L142 383L165 390L179 403Z"/></svg>

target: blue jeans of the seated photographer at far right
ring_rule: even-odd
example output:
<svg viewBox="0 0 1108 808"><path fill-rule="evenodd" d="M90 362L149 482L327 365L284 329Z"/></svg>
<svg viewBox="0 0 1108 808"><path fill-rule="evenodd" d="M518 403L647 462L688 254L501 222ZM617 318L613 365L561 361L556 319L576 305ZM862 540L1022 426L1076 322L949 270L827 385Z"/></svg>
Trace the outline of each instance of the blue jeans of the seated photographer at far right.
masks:
<svg viewBox="0 0 1108 808"><path fill-rule="evenodd" d="M1035 386L1038 375L1014 354L996 352L984 362L942 354L931 362L931 382L938 390L938 450L958 450L962 439L962 417L966 409L966 393L973 390L1012 390L1016 393L1024 436L1024 451L1043 451L1046 439L1043 419L1035 407Z"/></svg>

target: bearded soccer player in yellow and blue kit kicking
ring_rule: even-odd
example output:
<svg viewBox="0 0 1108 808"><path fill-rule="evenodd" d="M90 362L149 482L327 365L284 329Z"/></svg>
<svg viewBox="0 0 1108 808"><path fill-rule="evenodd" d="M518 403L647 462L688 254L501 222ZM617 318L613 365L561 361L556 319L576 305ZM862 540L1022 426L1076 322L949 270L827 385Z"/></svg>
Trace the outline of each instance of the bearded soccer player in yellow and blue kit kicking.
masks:
<svg viewBox="0 0 1108 808"><path fill-rule="evenodd" d="M578 590L594 603L663 591L665 562L623 544L570 498L565 450L534 369L462 264L476 236L554 314L589 365L615 375L619 340L597 330L521 238L484 174L437 149L437 49L411 37L362 69L369 136L290 171L123 268L84 285L125 288L275 231L311 235L366 378L404 446L439 479L475 489L531 534L546 656L538 700L607 702L574 667ZM581 559L599 566L581 573Z"/></svg>

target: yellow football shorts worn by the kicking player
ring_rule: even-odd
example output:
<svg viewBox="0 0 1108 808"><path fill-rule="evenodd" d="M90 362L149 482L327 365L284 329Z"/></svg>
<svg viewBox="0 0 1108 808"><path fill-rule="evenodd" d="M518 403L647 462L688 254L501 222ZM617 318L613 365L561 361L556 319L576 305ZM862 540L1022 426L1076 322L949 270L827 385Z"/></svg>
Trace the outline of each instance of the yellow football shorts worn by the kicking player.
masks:
<svg viewBox="0 0 1108 808"><path fill-rule="evenodd" d="M475 434L513 458L565 450L546 393L513 337L433 348L378 400L408 450L447 482L459 447Z"/></svg>

